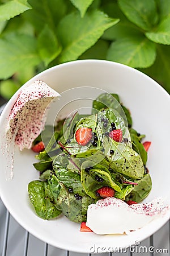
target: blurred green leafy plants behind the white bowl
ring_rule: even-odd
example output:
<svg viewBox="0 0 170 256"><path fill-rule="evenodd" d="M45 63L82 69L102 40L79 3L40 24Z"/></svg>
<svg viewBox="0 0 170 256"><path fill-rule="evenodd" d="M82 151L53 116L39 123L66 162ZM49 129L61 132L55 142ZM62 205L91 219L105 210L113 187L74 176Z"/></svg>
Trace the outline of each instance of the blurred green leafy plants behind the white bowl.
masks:
<svg viewBox="0 0 170 256"><path fill-rule="evenodd" d="M169 93L170 1L0 0L1 97L77 59L129 65Z"/></svg>

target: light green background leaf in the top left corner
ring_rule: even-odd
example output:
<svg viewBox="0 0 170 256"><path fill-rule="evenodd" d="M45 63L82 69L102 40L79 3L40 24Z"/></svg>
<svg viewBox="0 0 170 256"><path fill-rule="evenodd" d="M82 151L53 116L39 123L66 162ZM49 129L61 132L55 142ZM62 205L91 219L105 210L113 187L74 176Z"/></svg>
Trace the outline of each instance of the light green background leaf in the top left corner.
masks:
<svg viewBox="0 0 170 256"><path fill-rule="evenodd" d="M0 5L0 21L8 20L31 9L27 0L10 0Z"/></svg>

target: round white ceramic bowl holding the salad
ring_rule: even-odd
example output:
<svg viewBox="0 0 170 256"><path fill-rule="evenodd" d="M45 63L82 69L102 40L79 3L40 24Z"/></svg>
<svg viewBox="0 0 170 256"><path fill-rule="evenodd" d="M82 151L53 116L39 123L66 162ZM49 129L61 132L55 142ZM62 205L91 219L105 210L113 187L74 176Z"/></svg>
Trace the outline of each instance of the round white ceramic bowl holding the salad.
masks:
<svg viewBox="0 0 170 256"><path fill-rule="evenodd" d="M133 68L104 60L79 60L57 65L33 77L23 86L28 86L35 80L45 81L59 93L78 86L92 86L119 94L124 105L130 109L134 128L146 134L146 140L152 142L147 162L152 178L152 191L145 201L162 196L170 204L170 97L159 84ZM1 131L5 130L5 120L18 94L19 92L15 93L3 110ZM2 141L2 137L0 140ZM65 217L44 221L36 216L27 195L29 181L39 176L32 166L35 162L34 155L31 150L16 150L14 178L6 181L5 156L0 154L0 195L16 221L50 245L81 253L92 253L94 246L100 248L99 252L102 247L107 250L110 247L126 247L133 245L135 241L144 240L169 219L170 212L129 235L106 236L79 232L80 225Z"/></svg>

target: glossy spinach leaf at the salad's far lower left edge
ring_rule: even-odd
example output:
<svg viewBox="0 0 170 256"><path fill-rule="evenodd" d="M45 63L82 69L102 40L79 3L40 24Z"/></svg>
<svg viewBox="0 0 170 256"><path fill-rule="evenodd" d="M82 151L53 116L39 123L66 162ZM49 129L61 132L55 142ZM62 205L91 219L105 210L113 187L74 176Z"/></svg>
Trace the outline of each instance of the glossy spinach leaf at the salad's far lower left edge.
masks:
<svg viewBox="0 0 170 256"><path fill-rule="evenodd" d="M61 211L53 203L53 196L46 181L31 181L28 184L28 195L40 218L49 220L61 214Z"/></svg>

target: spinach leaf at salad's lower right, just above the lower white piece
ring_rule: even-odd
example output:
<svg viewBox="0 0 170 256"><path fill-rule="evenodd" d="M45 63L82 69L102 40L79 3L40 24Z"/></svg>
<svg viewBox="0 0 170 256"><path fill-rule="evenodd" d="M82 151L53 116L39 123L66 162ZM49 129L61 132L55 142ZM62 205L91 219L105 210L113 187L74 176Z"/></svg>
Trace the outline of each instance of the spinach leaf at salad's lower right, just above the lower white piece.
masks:
<svg viewBox="0 0 170 256"><path fill-rule="evenodd" d="M138 180L138 185L136 185L131 191L131 193L126 197L126 200L133 200L137 203L140 203L143 199L145 199L151 191L152 181L150 174L146 174L143 176L141 180Z"/></svg>

